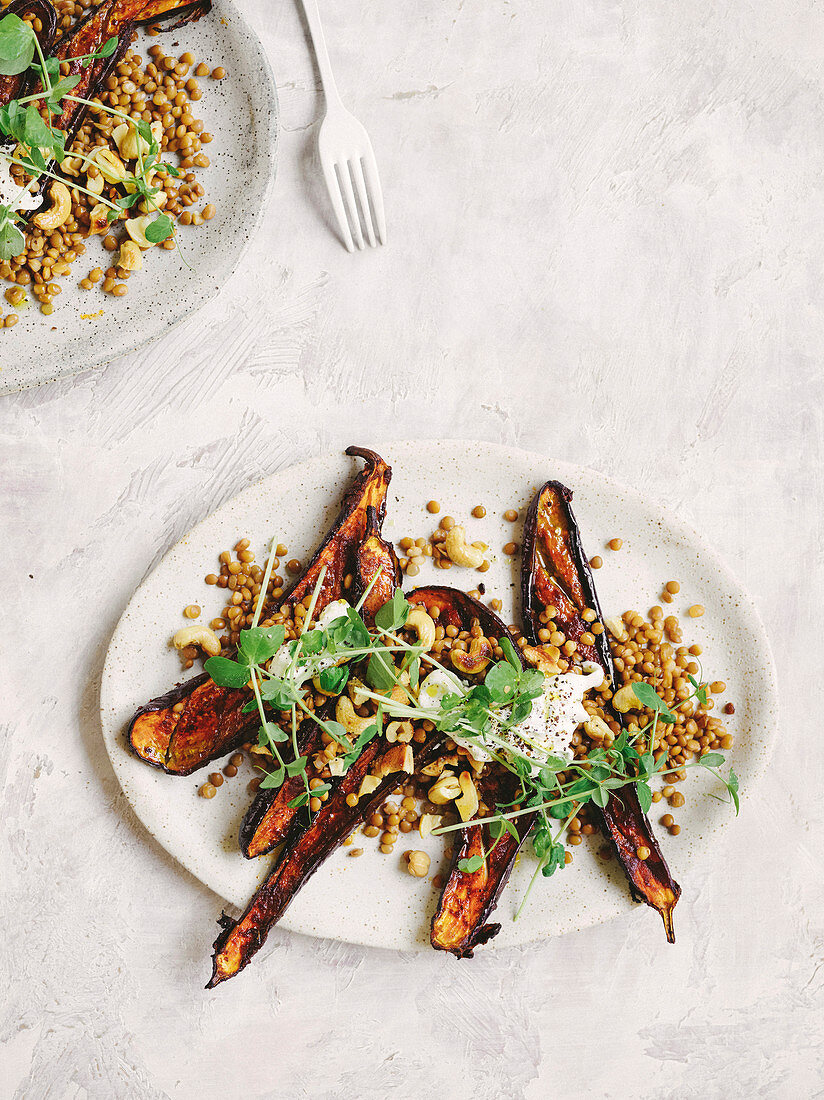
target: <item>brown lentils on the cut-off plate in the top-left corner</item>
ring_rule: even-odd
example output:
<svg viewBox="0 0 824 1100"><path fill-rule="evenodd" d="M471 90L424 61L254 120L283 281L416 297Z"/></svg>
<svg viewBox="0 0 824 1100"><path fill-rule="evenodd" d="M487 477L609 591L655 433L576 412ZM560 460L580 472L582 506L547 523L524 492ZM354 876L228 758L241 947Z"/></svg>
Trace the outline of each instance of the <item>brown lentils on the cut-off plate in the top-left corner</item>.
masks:
<svg viewBox="0 0 824 1100"><path fill-rule="evenodd" d="M3 4L2 7L6 7ZM68 30L80 20L88 9L96 7L92 0L54 0L57 12L58 33ZM35 31L40 20L33 20ZM147 34L156 36L157 28L150 28ZM68 73L64 63L61 75ZM123 211L122 217L106 227L91 224L91 211L95 199L84 195L73 187L73 182L89 187L100 188L109 199L117 199L120 191L116 184L101 178L100 169L92 163L84 166L79 154L91 154L96 148L108 148L118 153L112 140L112 131L123 122L122 119L105 113L103 106L113 107L134 120L143 119L150 124L157 123L162 129L160 140L164 154L176 154L180 176L157 174L154 186L162 188L154 197L154 202L162 212L176 220L177 226L199 227L210 221L216 213L212 204L199 206L205 195L202 184L195 169L209 167L209 157L204 146L212 141L212 135L205 130L201 119L196 118L194 105L201 98L202 90L199 79L209 77L222 80L227 76L221 66L211 68L205 62L196 62L186 51L179 56L167 56L162 45L152 45L149 57L143 58L130 48L122 61L109 76L106 88L94 100L100 107L91 107L69 148L63 164L57 169L69 188L72 209L66 221L50 231L40 230L30 224L25 230L25 249L9 261L0 261L0 278L13 284L4 292L4 298L12 311L0 315L0 327L13 328L20 320L20 312L31 305L33 298L45 316L51 316L56 308L56 298L63 287L61 279L72 275L73 265L86 255L91 237L101 235L105 254L87 274L79 279L79 286L86 290L99 288L106 295L123 297L129 293L128 282L142 268L139 260L140 250L130 246L133 239L128 231L128 221L134 222L138 208ZM74 156L73 156L74 154ZM21 185L28 182L28 176L17 166L12 175ZM51 186L51 185L50 185ZM48 207L48 187L44 209ZM139 205L140 213L147 212ZM135 230L140 237L140 231ZM123 244L127 249L123 250ZM147 243L147 242L146 242ZM177 248L174 237L163 241L157 248L174 251ZM117 255L114 255L117 253Z"/></svg>

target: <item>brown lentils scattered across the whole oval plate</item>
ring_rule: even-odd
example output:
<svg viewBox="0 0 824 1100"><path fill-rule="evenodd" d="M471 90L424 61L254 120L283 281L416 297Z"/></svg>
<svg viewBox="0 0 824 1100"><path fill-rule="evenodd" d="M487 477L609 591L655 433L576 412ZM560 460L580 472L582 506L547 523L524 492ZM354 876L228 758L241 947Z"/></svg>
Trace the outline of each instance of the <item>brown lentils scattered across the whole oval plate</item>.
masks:
<svg viewBox="0 0 824 1100"><path fill-rule="evenodd" d="M440 510L440 505L430 501L427 505L430 514ZM472 510L474 518L483 518L486 510L482 505ZM507 522L515 522L518 519L516 509L507 509L504 513ZM416 575L418 565L416 559L429 557L433 564L440 563L441 569L451 568L452 562L438 548L442 547L447 535L455 526L455 520L446 516L440 520L439 527L428 538L404 538L399 541L399 547L404 553L402 568L407 575ZM487 547L483 543L473 543L476 549L485 552ZM623 541L614 538L606 543L606 548L616 552L622 549ZM233 553L224 550L219 554L219 572L209 573L206 583L210 586L224 588L228 594L228 602L220 617L210 623L215 631L223 631L220 642L224 656L233 653L238 644L240 630L250 626L254 615L254 607L261 591L263 581L263 569L255 564L255 556L249 549L250 540L241 539L235 546ZM507 542L503 547L507 556L515 557L519 552L519 547L515 542ZM414 552L417 551L417 552ZM297 637L304 627L306 612L310 603L307 596L303 603L295 607L279 605L278 601L284 595L286 581L278 573L279 569L297 575L301 571L301 563L297 559L289 559L288 549L285 544L278 543L275 550L273 562L273 574L270 580L266 598L264 602L262 623L265 626L282 624L286 630L286 638ZM282 563L285 562L285 565ZM591 565L595 569L603 566L600 557L591 560ZM485 568L483 568L485 566ZM475 566L480 572L486 572L490 568L487 559L483 559L480 565ZM344 580L344 586L351 584L351 578ZM680 592L680 584L677 581L667 581L662 585L661 600L663 603L672 603ZM471 595L480 598L483 593L483 585L471 590ZM493 610L501 609L501 601L491 598L488 601ZM703 615L704 608L694 604L688 609L691 618ZM541 616L541 629L539 631L539 645L531 647L527 645L526 638L520 632L517 625L510 625L516 642L525 656L525 659L536 666L546 667L549 661L561 672L582 671L581 658L578 653L578 646L574 640L568 639L554 620L554 609L548 607ZM189 605L184 609L187 618L196 618L200 615L198 605ZM432 609L436 619L436 637L430 652L441 662L449 663L451 651L465 652L473 639L482 638L479 622L475 619L470 630L460 630L453 626L446 628L437 622L438 609ZM595 635L603 631L603 627L596 622L596 613L587 608L583 613L584 620L592 623L591 635L584 634L582 642L592 645ZM701 668L697 658L701 656L701 646L683 645L682 627L680 619L675 615L664 615L663 608L656 605L649 609L645 617L635 610L625 612L619 618L607 618L607 637L613 653L616 671L616 684L614 690L604 682L594 693L584 700L584 708L590 715L590 721L579 728L572 737L572 748L576 762L585 763L591 749L603 746L608 747L620 732L620 724L615 716L613 707L622 713L624 727L630 735L637 734L646 727L652 718L652 712L642 707L635 696L631 697L631 705L618 707L618 702L626 700L627 693L622 696L622 689L628 688L634 682L646 681L657 692L675 715L674 726L659 725L655 740L651 746L641 738L637 747L639 751L645 751L648 747L655 755L657 761L663 761L662 772L663 785L661 790L652 793L652 802L658 804L662 801L668 803L669 810L679 810L685 803L685 795L678 789L686 778L684 766L693 758L703 756L710 751L729 749L733 746L733 736L727 732L724 722L712 712L715 710L716 697L724 694L726 684L722 681L702 683L706 693L706 701L701 702L694 695L694 690L689 676L700 676ZM409 635L408 640L416 639ZM501 660L504 656L497 640L490 639L491 649L495 660ZM196 648L183 650L183 659L186 668L191 668L198 657ZM350 683L348 694L354 704L354 713L360 718L371 717L375 713L374 704L366 702L356 705L356 689ZM617 697L617 700L616 700ZM306 700L307 706L312 710L328 702L327 696L311 693ZM724 706L725 715L735 713L732 703ZM276 721L277 719L277 716ZM286 721L285 718L281 721ZM392 726L395 728L392 729ZM389 727L392 734L388 739L400 743L419 744L426 740L433 729L429 722L422 723L394 723ZM388 730L387 730L388 733ZM311 761L316 776L309 780L310 789L316 789L331 777L329 765L334 760L340 751L339 745L328 735L322 735L323 748ZM233 778L244 759L254 762L259 771L265 770L268 763L267 750L261 749L251 743L243 746L243 751L234 754L229 763L220 772L213 772L209 780L200 788L200 794L205 798L213 798L217 789L223 783L223 777ZM369 839L378 845L384 855L392 855L398 839L417 833L422 839L429 835L433 827L438 825L454 824L459 821L454 812L455 794L449 795L449 783L458 781L459 773L469 773L475 779L483 776L483 765L479 765L471 755L461 746L447 740L443 754L433 762L428 765L421 773L410 774L406 782L398 785L380 811L374 812L370 818L344 842L344 847L349 855L358 857L363 854L361 838ZM375 778L380 779L380 770L375 769ZM567 777L561 777L562 781ZM570 776L569 778L572 778ZM253 778L249 782L249 790L256 792L260 787L262 776ZM446 784L444 784L446 779ZM446 792L446 794L444 794ZM322 793L319 798L312 798L310 809L317 811L321 803L328 799L328 793ZM349 804L356 805L358 795L349 795ZM491 807L481 802L479 813L490 812ZM672 813L667 812L659 818L660 824L666 827L671 835L678 836L681 826L677 823ZM584 838L593 838L600 844L598 855L603 859L612 858L612 849L603 843L600 837L598 825L595 814L590 807L584 805L579 814L569 824L565 844L578 847ZM359 844L359 842L361 842ZM647 858L649 851L641 849L639 858ZM573 854L567 851L565 861L572 862ZM403 853L402 867L415 877L426 877L430 869L429 856L420 850L407 848ZM442 884L442 877L436 875L433 878L436 887Z"/></svg>

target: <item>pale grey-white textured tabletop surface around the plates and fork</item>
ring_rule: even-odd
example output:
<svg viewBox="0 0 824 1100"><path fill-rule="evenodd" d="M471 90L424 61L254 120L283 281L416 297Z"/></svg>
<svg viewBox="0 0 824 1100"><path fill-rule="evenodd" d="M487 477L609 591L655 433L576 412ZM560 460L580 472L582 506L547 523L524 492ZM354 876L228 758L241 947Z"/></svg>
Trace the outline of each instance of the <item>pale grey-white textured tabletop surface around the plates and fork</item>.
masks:
<svg viewBox="0 0 824 1100"><path fill-rule="evenodd" d="M0 400L0 1094L820 1094L824 13L323 8L388 246L330 235L300 21L248 0L284 130L245 270L149 350ZM100 741L109 635L222 501L393 436L520 444L678 509L767 623L782 747L675 947L646 912L472 963L276 932L206 993L216 899Z"/></svg>

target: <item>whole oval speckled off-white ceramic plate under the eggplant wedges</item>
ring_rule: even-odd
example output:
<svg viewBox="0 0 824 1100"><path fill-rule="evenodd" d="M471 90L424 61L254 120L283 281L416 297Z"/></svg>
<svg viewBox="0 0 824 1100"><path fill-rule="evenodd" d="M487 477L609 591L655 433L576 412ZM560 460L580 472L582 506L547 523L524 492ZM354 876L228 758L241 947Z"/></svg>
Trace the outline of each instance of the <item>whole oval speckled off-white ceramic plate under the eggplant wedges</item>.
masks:
<svg viewBox="0 0 824 1100"><path fill-rule="evenodd" d="M372 446L370 441L356 442ZM726 681L724 697L735 703L729 728L736 744L729 757L746 791L743 813L747 812L777 729L772 659L749 598L694 531L592 470L539 454L470 442L393 443L377 449L394 469L384 528L388 538L431 534L435 522L426 502L435 497L443 506L442 515L465 520L472 536L492 548L493 564L483 578L458 569L444 575L428 565L416 581L471 588L483 579L486 597L503 601L505 622L517 616L517 563L503 554L502 547L519 539L520 522L507 524L503 513L515 507L523 515L536 487L550 477L560 479L574 491L584 547L589 554L601 553L604 559L604 568L595 576L605 614L628 608L646 612L659 603L661 585L678 579L681 592L671 605L673 612L683 615L695 603L707 609L703 618L685 619L685 640L703 646L705 673ZM246 784L251 769L244 766L217 798L207 801L196 793L206 770L182 779L149 768L127 750L124 729L139 705L180 679L177 654L166 639L184 625L184 606L199 603L206 622L220 610L218 591L204 584L205 574L216 569L217 554L242 537L250 538L262 552L275 536L287 543L289 556L305 560L333 519L355 469L355 460L343 454L325 455L278 473L230 501L168 551L135 593L109 648L101 692L102 727L127 798L146 828L176 859L239 906L245 904L270 866L266 858L249 862L237 847L238 826L250 801ZM470 517L477 504L485 506L485 519ZM615 536L624 539L617 553L604 549L606 540ZM707 796L716 783L706 773L696 771L683 789L686 804L678 811L681 835L664 833L661 844L689 898L693 867L710 858L711 845L735 818L728 805ZM658 816L653 813L653 821ZM419 838L413 845L399 844L394 856L381 855L375 843L365 838L362 846L365 851L360 859L348 858L342 849L325 864L297 897L282 926L359 944L425 947L436 900L431 876L443 862L441 842L430 838L425 845L432 855L431 875L425 880L413 879L400 866L403 849L420 846ZM532 891L524 915L514 923L513 913L534 867L534 858L527 854L515 869L497 908L501 934L484 950L582 928L633 906L616 864L605 866L594 846L582 845L575 849L572 866ZM649 921L650 936L661 934L651 911L645 910L638 919Z"/></svg>

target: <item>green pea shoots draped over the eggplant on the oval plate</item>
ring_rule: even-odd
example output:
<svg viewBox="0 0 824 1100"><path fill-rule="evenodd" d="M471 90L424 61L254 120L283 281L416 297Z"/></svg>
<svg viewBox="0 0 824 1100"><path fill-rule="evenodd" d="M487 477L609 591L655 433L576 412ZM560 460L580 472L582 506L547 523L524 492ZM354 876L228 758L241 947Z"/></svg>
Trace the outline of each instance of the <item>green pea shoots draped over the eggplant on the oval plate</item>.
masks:
<svg viewBox="0 0 824 1100"><path fill-rule="evenodd" d="M539 743L530 740L521 728L531 713L534 701L543 693L546 678L536 669L524 668L508 637L503 636L498 640L503 658L490 664L483 683L471 685L440 664L431 653L424 652L420 645L410 644L402 637L410 605L399 588L376 613L372 630L361 615L371 586L356 606L347 606L327 626L312 625L326 576L326 569L322 569L300 634L287 642L283 626L257 625L273 557L274 544L252 627L240 632L235 659L211 657L205 669L219 685L234 689L251 685L253 697L243 710L257 711L261 719L257 743L272 754L275 765L261 787L277 789L286 779L300 776L304 790L288 803L290 807L304 805L310 798L330 790L329 783L315 787L311 791L309 789L308 760L299 751L298 728L301 722L311 719L317 723L341 747L342 756L338 758L342 761L339 765L341 774L373 738L381 736L384 718L432 723L441 734L481 749L517 781L516 795L508 805L499 804L495 813L475 817L472 822L443 825L432 831L435 835L444 835L479 824L488 826L493 840L491 847L459 860L461 871L472 873L479 870L506 835L519 844L519 820L534 818L530 836L538 866L516 916L523 911L535 881L539 877L549 878L565 866L562 838L582 806L593 803L604 809L611 798L619 799L622 789L631 787L641 810L645 813L649 811L652 780L672 768L667 762L667 754L659 752L656 758L651 746L655 745L659 724L674 726L678 722L677 715L650 684L639 681L631 685L638 703L652 712L651 721L641 729L631 735L623 729L611 745L592 748L585 759L552 756ZM377 576L372 584L376 580ZM421 701L418 691L424 664L440 670L451 688L436 705ZM374 722L353 738L339 722L322 717L310 707L308 701L314 684L330 696L343 692L355 667L363 675L363 682L358 681L358 693L375 702L377 713ZM694 676L690 676L690 681L693 693L689 698L705 703L706 689L702 682ZM396 688L400 691L395 692ZM274 713L279 713L279 721L273 719ZM517 736L508 737L512 730L517 730ZM707 752L684 767L702 768L715 776L737 814L738 778L732 769L724 777L719 771L723 763L722 754ZM713 798L719 795L714 794Z"/></svg>

